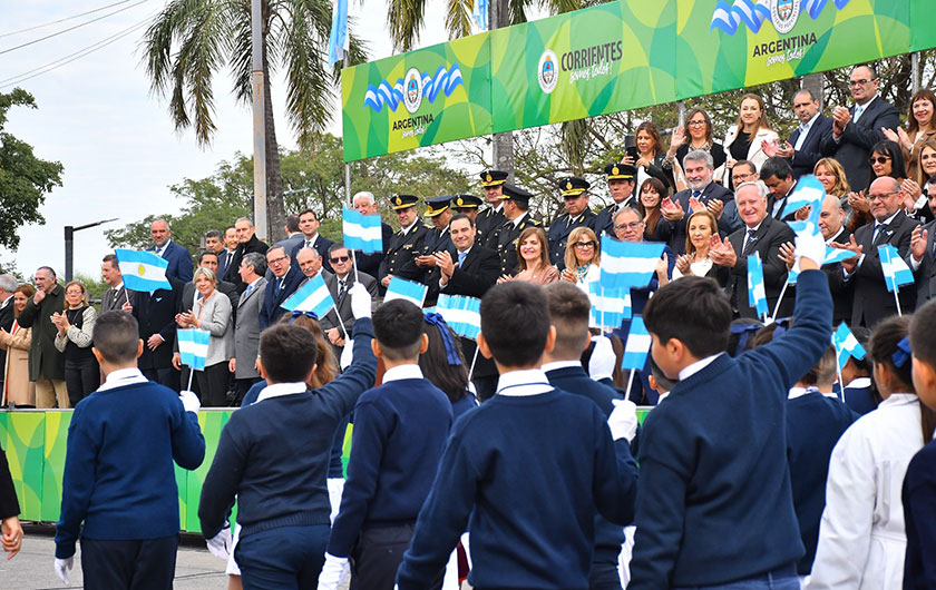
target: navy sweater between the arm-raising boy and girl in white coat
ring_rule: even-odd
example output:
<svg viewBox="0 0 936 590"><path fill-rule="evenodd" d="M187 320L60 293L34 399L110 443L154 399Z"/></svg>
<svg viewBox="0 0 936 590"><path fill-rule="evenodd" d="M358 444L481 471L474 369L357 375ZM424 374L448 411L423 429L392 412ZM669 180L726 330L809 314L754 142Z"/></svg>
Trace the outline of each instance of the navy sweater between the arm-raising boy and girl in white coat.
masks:
<svg viewBox="0 0 936 590"><path fill-rule="evenodd" d="M837 399L811 391L787 400L787 461L793 509L806 554L797 562L797 573L808 576L816 559L819 521L826 508L826 479L829 458L841 434L858 414Z"/></svg>

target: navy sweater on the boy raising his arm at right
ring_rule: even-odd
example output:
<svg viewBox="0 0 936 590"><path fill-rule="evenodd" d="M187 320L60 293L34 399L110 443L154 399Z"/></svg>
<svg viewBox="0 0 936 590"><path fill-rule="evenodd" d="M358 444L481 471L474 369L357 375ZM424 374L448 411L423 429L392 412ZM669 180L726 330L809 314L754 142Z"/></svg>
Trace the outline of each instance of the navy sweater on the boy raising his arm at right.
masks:
<svg viewBox="0 0 936 590"><path fill-rule="evenodd" d="M826 275L800 274L796 301L783 335L737 358L719 355L644 421L628 590L725 583L802 557L786 402L829 346Z"/></svg>

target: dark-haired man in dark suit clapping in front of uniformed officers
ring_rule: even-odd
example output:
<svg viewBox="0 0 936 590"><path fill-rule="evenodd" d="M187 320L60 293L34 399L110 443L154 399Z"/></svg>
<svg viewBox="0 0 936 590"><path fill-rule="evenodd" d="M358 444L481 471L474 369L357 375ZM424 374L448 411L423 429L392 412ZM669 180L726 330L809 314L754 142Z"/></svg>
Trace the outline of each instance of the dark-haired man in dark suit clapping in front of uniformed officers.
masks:
<svg viewBox="0 0 936 590"><path fill-rule="evenodd" d="M441 271L439 287L446 295L480 299L497 283L497 277L500 276L500 259L493 249L475 244L477 228L470 217L456 215L451 218L449 227L455 247L436 254ZM470 338L460 340L465 360L471 363L477 345ZM471 381L479 400L485 401L494 395L497 390L497 376L494 361L479 354L471 372Z"/></svg>

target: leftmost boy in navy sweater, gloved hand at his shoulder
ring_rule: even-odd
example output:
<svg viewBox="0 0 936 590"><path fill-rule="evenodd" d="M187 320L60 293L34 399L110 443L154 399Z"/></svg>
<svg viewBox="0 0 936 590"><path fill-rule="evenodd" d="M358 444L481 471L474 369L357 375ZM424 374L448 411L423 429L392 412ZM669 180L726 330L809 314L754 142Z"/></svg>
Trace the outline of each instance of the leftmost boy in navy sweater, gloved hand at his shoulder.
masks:
<svg viewBox="0 0 936 590"><path fill-rule="evenodd" d="M101 314L94 341L106 380L78 403L68 426L56 572L70 583L80 537L85 588L172 588L178 548L173 461L194 470L205 459L198 399L143 376L136 365L143 341L130 314Z"/></svg>

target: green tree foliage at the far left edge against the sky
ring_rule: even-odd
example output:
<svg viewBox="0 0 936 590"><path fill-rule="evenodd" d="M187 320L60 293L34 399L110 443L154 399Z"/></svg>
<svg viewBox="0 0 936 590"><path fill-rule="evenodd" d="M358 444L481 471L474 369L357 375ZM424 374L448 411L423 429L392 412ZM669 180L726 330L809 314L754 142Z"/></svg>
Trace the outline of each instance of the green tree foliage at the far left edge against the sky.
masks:
<svg viewBox="0 0 936 590"><path fill-rule="evenodd" d="M39 207L47 193L61 186L62 166L37 158L32 146L3 130L12 107L35 109L36 100L21 88L0 92L0 245L16 249L20 226L45 222Z"/></svg>

